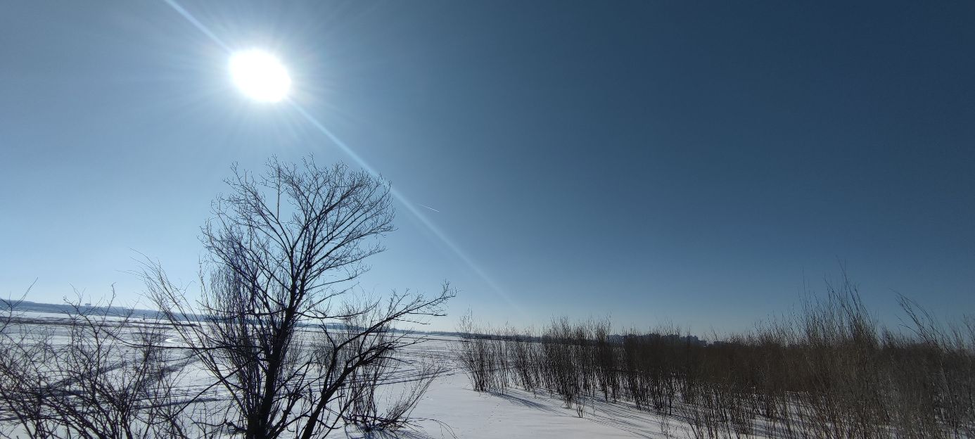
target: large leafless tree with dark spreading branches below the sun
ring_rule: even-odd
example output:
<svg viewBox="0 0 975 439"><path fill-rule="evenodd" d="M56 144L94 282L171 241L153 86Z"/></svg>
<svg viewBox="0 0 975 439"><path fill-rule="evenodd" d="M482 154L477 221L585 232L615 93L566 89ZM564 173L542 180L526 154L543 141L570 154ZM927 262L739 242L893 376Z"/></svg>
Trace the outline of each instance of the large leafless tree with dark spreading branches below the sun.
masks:
<svg viewBox="0 0 975 439"><path fill-rule="evenodd" d="M235 167L227 183L203 228L210 257L199 299L151 262L149 296L228 393L223 428L248 439L322 437L348 409L337 399L350 379L406 343L376 335L441 315L453 291L343 301L364 259L383 250L377 238L393 230L383 180L341 164L271 159L264 175ZM362 316L370 321L358 323Z"/></svg>

